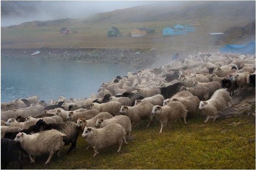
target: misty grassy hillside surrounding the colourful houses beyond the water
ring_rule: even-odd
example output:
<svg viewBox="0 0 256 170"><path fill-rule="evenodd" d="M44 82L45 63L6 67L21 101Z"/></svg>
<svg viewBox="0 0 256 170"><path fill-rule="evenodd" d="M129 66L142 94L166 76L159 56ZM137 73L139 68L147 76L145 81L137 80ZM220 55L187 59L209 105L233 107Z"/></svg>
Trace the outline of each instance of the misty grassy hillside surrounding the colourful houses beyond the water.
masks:
<svg viewBox="0 0 256 170"><path fill-rule="evenodd" d="M188 44L213 45L209 32L224 32L227 28L244 26L255 20L253 1L189 1L179 3L153 4L126 8L96 14L85 19L63 19L53 21L34 21L19 26L2 27L2 48L192 48ZM195 24L195 33L186 36L161 37L166 26ZM61 27L68 26L77 34L60 35ZM116 26L122 36L107 38L110 26ZM148 27L156 30L146 37L127 37L132 28ZM228 42L232 42L229 39ZM186 47L185 47L185 45Z"/></svg>

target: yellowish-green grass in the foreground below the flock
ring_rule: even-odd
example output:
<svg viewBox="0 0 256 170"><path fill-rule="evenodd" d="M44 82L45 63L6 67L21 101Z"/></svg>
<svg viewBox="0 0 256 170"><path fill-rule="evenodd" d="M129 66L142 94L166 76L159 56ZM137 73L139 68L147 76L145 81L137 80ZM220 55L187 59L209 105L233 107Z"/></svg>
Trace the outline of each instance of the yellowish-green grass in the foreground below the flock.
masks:
<svg viewBox="0 0 256 170"><path fill-rule="evenodd" d="M209 120L201 113L183 122L172 123L159 134L160 124L137 124L131 133L134 139L117 147L99 150L93 158L93 149L85 150L87 143L79 136L77 147L66 155L65 146L60 157L53 156L44 165L47 156L37 157L35 164L24 157L24 169L255 169L255 116L241 115L230 119ZM233 122L239 124L230 125ZM225 132L225 133L222 133ZM17 169L13 163L10 169Z"/></svg>

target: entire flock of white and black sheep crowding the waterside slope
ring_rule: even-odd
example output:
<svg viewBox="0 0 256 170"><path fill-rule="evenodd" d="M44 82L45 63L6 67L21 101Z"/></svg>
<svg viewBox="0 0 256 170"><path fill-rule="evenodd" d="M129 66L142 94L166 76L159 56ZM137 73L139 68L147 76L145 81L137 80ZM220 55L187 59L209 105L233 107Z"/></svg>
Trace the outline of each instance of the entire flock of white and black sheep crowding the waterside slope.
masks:
<svg viewBox="0 0 256 170"><path fill-rule="evenodd" d="M79 132L96 156L101 148L127 144L132 127L156 118L160 133L169 122L181 121L198 109L215 121L218 111L233 105L231 95L241 88L255 88L255 55L198 54L161 68L145 69L102 83L98 94L88 99L66 99L48 103L38 96L1 103L1 168L21 155L49 154L48 164L64 145L76 147ZM238 92L234 93L238 89ZM234 105L233 105L234 106ZM202 116L203 116L202 114Z"/></svg>

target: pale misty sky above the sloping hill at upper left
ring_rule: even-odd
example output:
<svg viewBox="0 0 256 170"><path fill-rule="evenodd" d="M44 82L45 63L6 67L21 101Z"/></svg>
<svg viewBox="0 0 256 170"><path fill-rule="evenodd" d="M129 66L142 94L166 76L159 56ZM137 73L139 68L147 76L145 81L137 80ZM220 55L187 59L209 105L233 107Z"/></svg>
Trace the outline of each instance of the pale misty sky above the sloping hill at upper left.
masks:
<svg viewBox="0 0 256 170"><path fill-rule="evenodd" d="M34 20L84 18L91 14L154 3L155 1L1 1L1 26Z"/></svg>

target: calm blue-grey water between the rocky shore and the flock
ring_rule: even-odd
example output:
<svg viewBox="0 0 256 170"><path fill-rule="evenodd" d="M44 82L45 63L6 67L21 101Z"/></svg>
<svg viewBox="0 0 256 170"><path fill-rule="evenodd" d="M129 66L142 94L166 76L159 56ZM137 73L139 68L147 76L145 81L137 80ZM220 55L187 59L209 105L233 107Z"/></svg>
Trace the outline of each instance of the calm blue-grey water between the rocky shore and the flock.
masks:
<svg viewBox="0 0 256 170"><path fill-rule="evenodd" d="M131 65L73 60L1 57L1 102L38 95L50 99L90 97L102 82L137 71Z"/></svg>

